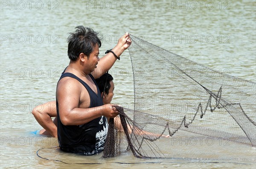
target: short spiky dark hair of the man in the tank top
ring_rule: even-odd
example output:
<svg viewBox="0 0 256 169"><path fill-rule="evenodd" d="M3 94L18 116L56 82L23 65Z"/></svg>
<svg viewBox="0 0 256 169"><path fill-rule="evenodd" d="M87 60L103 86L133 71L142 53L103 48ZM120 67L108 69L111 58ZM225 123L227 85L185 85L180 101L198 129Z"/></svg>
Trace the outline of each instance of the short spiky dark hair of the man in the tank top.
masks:
<svg viewBox="0 0 256 169"><path fill-rule="evenodd" d="M82 25L77 26L76 31L71 32L67 38L67 55L70 60L76 61L81 53L89 57L96 44L98 44L100 48L101 41L97 35L98 33L91 28L84 28Z"/></svg>

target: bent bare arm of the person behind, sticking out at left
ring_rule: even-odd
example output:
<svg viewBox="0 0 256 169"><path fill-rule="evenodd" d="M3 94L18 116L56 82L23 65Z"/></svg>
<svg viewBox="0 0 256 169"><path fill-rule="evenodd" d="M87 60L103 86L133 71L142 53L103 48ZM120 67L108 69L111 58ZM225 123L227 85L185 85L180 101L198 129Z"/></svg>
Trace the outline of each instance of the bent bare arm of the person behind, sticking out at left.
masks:
<svg viewBox="0 0 256 169"><path fill-rule="evenodd" d="M36 106L32 110L32 114L36 121L38 121L38 123L46 130L41 131L41 134L57 137L57 123L56 120L54 123L51 118L57 116L56 101L49 101Z"/></svg>

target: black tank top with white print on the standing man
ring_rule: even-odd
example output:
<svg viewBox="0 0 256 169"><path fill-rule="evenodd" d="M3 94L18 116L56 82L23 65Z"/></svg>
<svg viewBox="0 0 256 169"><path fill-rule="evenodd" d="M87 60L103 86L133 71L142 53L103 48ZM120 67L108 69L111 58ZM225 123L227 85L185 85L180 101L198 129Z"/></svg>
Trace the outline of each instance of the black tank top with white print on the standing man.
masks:
<svg viewBox="0 0 256 169"><path fill-rule="evenodd" d="M72 73L63 73L59 80L64 77L77 79L87 89L90 96L90 107L102 106L99 87L93 76L89 74L97 87L96 94L84 81ZM59 117L58 101L56 98L58 119L58 143L62 150L75 152L83 155L93 155L102 152L108 133L107 119L102 116L82 125L63 125Z"/></svg>

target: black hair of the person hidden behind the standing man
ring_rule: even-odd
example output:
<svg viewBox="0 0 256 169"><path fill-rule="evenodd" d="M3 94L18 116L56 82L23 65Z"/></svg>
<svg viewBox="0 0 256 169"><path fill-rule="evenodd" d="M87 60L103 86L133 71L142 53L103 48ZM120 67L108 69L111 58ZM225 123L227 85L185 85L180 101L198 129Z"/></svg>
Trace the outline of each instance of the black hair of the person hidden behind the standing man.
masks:
<svg viewBox="0 0 256 169"><path fill-rule="evenodd" d="M106 94L108 94L108 91L111 87L111 85L110 85L111 80L113 80L113 77L109 73L105 73L102 76L100 76L99 79L95 79L96 83L99 86L100 93L105 92ZM104 88L105 88L105 90L104 90Z"/></svg>

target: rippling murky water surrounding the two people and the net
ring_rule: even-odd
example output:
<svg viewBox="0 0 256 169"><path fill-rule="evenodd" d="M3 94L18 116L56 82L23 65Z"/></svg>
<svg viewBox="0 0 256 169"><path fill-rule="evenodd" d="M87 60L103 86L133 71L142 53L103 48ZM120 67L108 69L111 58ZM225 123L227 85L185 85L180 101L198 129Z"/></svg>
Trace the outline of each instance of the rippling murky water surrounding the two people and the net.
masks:
<svg viewBox="0 0 256 169"><path fill-rule="evenodd" d="M253 168L239 163L138 159L131 154L103 159L59 152L55 138L30 134L41 129L31 111L55 100L55 87L68 65L67 36L77 25L102 34L100 55L129 32L210 68L256 82L256 2L246 1L5 1L0 13L1 168ZM113 103L133 108L128 51L110 73ZM224 125L224 124L223 124ZM39 158L36 154L48 157ZM255 149L252 148L252 151ZM65 164L100 163L100 164ZM120 162L120 163L118 163ZM153 162L153 163L151 163ZM128 164L132 163L132 164Z"/></svg>

